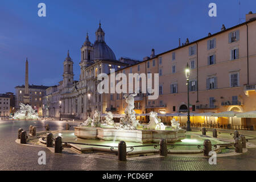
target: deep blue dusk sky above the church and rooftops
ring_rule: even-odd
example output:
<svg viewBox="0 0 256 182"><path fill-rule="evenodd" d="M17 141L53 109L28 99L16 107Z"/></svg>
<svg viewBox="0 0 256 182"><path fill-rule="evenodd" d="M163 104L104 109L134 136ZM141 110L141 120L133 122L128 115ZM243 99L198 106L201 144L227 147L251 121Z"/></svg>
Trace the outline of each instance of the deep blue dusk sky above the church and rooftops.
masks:
<svg viewBox="0 0 256 182"><path fill-rule="evenodd" d="M38 4L46 3L46 17L38 16ZM217 17L209 17L208 5L217 4ZM50 1L1 0L0 2L0 93L15 92L24 84L28 57L29 84L57 85L62 80L63 61L69 49L79 80L80 48L86 32L90 42L101 20L105 41L117 59L142 60L155 53L203 38L245 22L256 12L256 1ZM239 13L240 12L240 13Z"/></svg>

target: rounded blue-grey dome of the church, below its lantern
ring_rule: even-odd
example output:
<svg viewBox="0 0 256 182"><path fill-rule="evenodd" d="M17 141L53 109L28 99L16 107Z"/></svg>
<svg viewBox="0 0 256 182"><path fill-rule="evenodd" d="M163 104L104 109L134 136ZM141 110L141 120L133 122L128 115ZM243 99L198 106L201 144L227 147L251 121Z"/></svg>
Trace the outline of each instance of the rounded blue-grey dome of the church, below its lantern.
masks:
<svg viewBox="0 0 256 182"><path fill-rule="evenodd" d="M98 41L93 44L93 59L116 60L112 49L105 42Z"/></svg>

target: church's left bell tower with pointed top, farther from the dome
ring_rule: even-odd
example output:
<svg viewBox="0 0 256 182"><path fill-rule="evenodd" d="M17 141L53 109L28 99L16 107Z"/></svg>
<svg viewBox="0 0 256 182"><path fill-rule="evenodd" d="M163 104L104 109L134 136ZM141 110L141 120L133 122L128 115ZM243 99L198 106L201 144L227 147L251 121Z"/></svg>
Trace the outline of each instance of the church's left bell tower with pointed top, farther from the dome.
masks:
<svg viewBox="0 0 256 182"><path fill-rule="evenodd" d="M66 59L64 60L64 72L63 72L63 86L72 87L73 86L73 61L69 56L69 51Z"/></svg>

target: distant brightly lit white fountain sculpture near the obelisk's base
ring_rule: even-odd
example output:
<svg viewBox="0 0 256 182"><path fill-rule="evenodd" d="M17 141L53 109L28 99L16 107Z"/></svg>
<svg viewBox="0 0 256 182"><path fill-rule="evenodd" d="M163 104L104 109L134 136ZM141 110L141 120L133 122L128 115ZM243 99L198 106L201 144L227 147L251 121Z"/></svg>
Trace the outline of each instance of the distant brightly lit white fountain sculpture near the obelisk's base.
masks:
<svg viewBox="0 0 256 182"><path fill-rule="evenodd" d="M30 106L19 104L19 110L14 113L13 119L38 119L38 113Z"/></svg>

